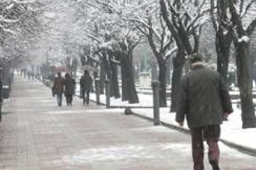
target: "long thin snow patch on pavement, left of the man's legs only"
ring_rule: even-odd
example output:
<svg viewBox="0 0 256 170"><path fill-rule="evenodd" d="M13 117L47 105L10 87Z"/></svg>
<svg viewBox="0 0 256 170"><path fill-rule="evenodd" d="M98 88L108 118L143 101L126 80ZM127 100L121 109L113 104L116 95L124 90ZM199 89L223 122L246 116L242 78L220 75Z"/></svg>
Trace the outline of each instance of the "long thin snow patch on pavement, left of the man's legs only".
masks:
<svg viewBox="0 0 256 170"><path fill-rule="evenodd" d="M159 150L166 152L182 152L190 155L190 144L149 144L149 145L122 145L106 148L92 148L82 150L74 155L66 155L62 160L67 164L82 164L92 161L118 161L118 160L150 160L163 158Z"/></svg>

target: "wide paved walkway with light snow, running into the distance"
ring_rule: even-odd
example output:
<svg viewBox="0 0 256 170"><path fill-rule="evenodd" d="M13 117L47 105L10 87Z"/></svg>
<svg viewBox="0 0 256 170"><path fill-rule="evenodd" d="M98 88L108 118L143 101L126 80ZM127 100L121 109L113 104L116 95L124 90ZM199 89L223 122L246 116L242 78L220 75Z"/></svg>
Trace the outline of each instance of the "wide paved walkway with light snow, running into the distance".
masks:
<svg viewBox="0 0 256 170"><path fill-rule="evenodd" d="M0 169L192 169L186 134L79 99L58 107L38 82L15 77L3 112ZM255 157L220 146L222 169L256 169Z"/></svg>

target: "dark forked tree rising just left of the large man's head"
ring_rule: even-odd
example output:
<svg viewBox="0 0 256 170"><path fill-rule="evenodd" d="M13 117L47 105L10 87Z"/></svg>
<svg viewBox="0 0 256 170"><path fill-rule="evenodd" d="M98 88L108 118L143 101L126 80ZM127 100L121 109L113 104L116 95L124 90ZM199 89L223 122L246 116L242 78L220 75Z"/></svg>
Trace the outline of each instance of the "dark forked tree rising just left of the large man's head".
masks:
<svg viewBox="0 0 256 170"><path fill-rule="evenodd" d="M173 58L171 111L176 111L176 93L185 56L198 52L202 25L210 19L210 4L203 1L160 0L161 14L177 45ZM192 46L194 44L194 47Z"/></svg>

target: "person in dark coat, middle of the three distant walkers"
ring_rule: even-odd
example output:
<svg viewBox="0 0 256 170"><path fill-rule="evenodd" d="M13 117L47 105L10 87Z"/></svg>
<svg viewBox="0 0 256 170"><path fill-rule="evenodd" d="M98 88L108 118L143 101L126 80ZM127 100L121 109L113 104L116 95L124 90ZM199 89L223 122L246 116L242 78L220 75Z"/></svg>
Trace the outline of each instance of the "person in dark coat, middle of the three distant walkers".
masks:
<svg viewBox="0 0 256 170"><path fill-rule="evenodd" d="M66 73L65 75L65 81L64 81L64 86L65 86L65 96L66 96L66 102L67 105L72 105L72 100L73 100L73 94L75 90L75 80L71 78L69 73Z"/></svg>

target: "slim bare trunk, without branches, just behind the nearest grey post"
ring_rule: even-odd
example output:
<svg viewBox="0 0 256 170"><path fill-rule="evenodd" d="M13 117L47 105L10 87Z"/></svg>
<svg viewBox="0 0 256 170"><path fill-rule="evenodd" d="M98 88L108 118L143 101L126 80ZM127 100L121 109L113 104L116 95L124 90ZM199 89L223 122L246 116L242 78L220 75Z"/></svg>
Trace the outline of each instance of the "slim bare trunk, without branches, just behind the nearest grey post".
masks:
<svg viewBox="0 0 256 170"><path fill-rule="evenodd" d="M158 63L159 65L159 81L160 81L160 107L166 107L166 62L163 60Z"/></svg>

